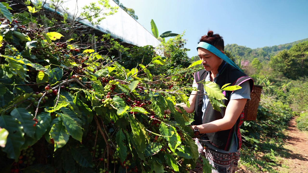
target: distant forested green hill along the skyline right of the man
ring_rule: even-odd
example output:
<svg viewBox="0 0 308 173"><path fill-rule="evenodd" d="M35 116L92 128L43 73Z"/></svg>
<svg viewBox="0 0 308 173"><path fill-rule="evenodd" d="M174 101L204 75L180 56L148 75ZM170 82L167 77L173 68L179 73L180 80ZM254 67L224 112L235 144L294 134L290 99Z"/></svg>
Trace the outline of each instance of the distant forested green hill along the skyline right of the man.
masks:
<svg viewBox="0 0 308 173"><path fill-rule="evenodd" d="M258 58L262 62L270 60L271 56L278 54L281 50L289 50L293 45L304 41L308 41L308 38L278 46L265 46L257 49L251 49L237 44L227 44L225 50L230 51L235 59L241 58L242 60L249 60L251 62L253 58Z"/></svg>

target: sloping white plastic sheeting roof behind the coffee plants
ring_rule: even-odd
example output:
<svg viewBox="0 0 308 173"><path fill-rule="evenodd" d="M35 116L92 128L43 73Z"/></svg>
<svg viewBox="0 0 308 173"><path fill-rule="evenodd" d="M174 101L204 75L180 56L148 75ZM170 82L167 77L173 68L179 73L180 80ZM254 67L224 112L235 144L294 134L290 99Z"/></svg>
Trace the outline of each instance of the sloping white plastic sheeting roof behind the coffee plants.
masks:
<svg viewBox="0 0 308 173"><path fill-rule="evenodd" d="M100 6L97 0L64 1L66 2L61 4L58 13L60 15L67 13L69 17L80 16L80 13L83 11L82 7L84 7L85 5L89 6L91 2L95 2L97 6ZM32 0L32 2L34 4L37 4L39 0ZM40 2L42 2L42 0ZM54 11L52 8L50 8L50 3L50 0L46 0L46 4L43 6L43 8ZM111 6L118 6L113 0L109 0L109 3ZM108 10L105 11L108 12ZM97 26L93 26L89 21L85 19L80 20L79 22L84 25L95 28L96 30L99 30L103 33L110 34L113 38L120 39L122 42L126 42L135 46L159 46L160 41L157 40L150 32L148 32L148 30L141 26L128 13L126 13L126 11L124 11L120 6L115 14L105 17L106 18L103 19Z"/></svg>

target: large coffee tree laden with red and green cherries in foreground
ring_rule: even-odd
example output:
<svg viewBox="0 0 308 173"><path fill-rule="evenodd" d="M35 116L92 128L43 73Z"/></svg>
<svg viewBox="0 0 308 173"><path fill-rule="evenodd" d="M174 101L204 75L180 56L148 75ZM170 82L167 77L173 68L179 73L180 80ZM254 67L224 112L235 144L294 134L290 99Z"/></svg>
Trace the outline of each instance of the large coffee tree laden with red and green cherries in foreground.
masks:
<svg viewBox="0 0 308 173"><path fill-rule="evenodd" d="M195 166L193 117L175 109L188 97L181 88L156 88L163 79L153 81L147 69L164 65L165 58L153 56L129 70L113 57L61 41L60 33L2 21L2 170L159 173ZM221 89L205 86L222 106ZM164 114L167 109L171 114Z"/></svg>

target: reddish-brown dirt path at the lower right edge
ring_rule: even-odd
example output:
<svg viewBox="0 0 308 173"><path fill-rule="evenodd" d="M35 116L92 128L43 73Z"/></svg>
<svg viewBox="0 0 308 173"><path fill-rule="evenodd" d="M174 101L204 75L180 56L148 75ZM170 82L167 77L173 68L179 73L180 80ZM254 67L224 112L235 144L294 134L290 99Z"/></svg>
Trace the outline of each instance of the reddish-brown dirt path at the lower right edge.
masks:
<svg viewBox="0 0 308 173"><path fill-rule="evenodd" d="M308 134L296 128L296 118L291 119L286 131L287 138L284 148L288 150L290 156L282 161L286 167L276 168L281 173L308 173Z"/></svg>

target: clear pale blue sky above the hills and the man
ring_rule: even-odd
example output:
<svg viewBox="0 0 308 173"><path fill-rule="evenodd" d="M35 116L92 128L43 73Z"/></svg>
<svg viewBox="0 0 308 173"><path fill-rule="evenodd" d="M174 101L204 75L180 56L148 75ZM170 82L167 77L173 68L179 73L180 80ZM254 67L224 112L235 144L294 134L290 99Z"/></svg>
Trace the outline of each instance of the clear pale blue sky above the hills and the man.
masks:
<svg viewBox="0 0 308 173"><path fill-rule="evenodd" d="M197 55L197 42L207 31L226 44L250 48L274 46L308 38L307 0L120 0L135 10L149 32L151 19L159 34L185 31L188 56Z"/></svg>

